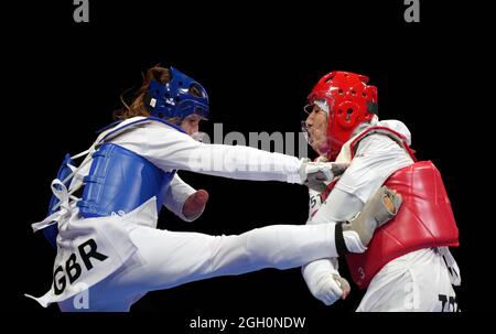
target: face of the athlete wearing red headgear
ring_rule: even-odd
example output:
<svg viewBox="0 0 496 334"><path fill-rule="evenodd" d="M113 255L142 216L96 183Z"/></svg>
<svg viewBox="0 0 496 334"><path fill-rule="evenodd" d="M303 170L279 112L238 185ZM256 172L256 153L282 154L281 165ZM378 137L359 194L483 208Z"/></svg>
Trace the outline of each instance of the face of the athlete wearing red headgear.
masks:
<svg viewBox="0 0 496 334"><path fill-rule="evenodd" d="M327 152L327 114L317 105L305 108L309 116L304 121L309 143L320 155Z"/></svg>

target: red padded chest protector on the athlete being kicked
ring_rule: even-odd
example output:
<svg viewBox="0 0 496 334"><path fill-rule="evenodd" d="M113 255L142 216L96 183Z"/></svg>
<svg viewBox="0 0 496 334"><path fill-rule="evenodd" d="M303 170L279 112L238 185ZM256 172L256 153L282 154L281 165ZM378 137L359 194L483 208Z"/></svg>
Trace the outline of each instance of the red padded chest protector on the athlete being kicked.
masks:
<svg viewBox="0 0 496 334"><path fill-rule="evenodd" d="M391 137L414 159L401 134L377 127L352 142L352 152L360 139L374 132ZM327 194L333 185L326 190ZM386 263L400 256L422 248L459 246L459 229L450 200L441 174L431 161L416 162L396 171L385 185L403 198L397 216L376 230L364 254L346 256L353 280L362 289L368 287Z"/></svg>

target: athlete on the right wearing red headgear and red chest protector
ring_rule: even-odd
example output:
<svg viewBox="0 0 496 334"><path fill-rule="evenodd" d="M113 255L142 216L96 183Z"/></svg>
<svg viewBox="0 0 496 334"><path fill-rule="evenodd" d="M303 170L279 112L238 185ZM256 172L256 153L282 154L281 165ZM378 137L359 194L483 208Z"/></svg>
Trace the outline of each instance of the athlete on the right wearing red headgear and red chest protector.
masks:
<svg viewBox="0 0 496 334"><path fill-rule="evenodd" d="M396 218L363 255L347 255L353 280L367 289L357 311L456 311L452 284L460 284L460 270L448 246L459 245L459 230L441 175L432 162L417 162L401 121L379 121L377 88L367 83L364 75L332 72L309 95L303 127L319 161L351 163L325 191L310 191L309 224L345 222L382 184L393 187L403 198ZM349 293L335 259L302 272L326 304Z"/></svg>

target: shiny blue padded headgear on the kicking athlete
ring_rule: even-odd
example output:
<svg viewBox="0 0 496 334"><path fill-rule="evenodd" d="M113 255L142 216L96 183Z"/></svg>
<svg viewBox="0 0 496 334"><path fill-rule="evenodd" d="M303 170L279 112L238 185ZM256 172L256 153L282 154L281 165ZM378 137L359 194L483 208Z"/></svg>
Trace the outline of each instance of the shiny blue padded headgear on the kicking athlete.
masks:
<svg viewBox="0 0 496 334"><path fill-rule="evenodd" d="M172 118L180 117L181 119L195 114L204 119L208 117L208 95L196 80L186 76L184 73L169 68L171 80L166 84L161 84L157 80L151 80L144 97L144 104L148 111L153 117ZM191 87L196 87L200 90L200 97L190 93Z"/></svg>

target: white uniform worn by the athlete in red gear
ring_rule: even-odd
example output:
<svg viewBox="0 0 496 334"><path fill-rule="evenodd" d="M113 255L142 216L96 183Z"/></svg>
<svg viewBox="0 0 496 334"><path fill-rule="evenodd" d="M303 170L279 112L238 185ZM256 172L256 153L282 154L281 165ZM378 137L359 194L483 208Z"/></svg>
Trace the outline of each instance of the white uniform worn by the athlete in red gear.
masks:
<svg viewBox="0 0 496 334"><path fill-rule="evenodd" d="M411 143L410 131L405 123L398 120L364 125L357 129L356 134L376 125L403 134L408 144ZM352 141L353 139L343 146L336 161L349 161L349 142ZM319 211L313 217L310 217L308 224L343 222L352 218L393 172L412 163L412 159L405 149L388 136L377 133L365 137L358 144L352 164L336 183L326 201L320 207L317 207L319 203L311 207L311 213L315 209ZM452 292L450 279L446 276L448 270L442 267L444 263L441 256L433 256L433 252L432 249L421 249L390 261L370 282L368 292L358 310L436 310L436 293L442 291L444 294L454 295L454 292ZM440 266L441 269L439 269ZM326 295L328 292L325 291L322 282L325 281L323 278L326 276L337 272L337 262L323 259L304 266L302 271L312 293L328 304L326 302L330 300ZM429 271L432 274L429 274ZM408 279L406 280L405 277ZM408 291L403 291L407 288Z"/></svg>

